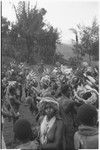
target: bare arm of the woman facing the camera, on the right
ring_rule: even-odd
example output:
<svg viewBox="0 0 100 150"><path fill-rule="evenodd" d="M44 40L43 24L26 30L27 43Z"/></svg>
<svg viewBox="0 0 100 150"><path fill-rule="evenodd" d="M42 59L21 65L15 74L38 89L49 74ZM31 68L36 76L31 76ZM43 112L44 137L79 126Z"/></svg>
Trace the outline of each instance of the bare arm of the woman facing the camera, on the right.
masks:
<svg viewBox="0 0 100 150"><path fill-rule="evenodd" d="M60 120L57 122L57 129L55 133L55 140L53 143L42 145L42 150L60 150L60 143L63 138L63 122Z"/></svg>

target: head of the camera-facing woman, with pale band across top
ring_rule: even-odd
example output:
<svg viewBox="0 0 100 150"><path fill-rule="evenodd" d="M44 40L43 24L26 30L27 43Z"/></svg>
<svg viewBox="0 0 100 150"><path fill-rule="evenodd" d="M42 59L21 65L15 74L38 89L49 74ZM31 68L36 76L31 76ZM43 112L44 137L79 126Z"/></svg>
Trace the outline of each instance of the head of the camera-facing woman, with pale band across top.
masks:
<svg viewBox="0 0 100 150"><path fill-rule="evenodd" d="M49 118L52 118L54 115L59 112L59 103L54 100L52 97L44 97L38 105L39 111L42 111Z"/></svg>

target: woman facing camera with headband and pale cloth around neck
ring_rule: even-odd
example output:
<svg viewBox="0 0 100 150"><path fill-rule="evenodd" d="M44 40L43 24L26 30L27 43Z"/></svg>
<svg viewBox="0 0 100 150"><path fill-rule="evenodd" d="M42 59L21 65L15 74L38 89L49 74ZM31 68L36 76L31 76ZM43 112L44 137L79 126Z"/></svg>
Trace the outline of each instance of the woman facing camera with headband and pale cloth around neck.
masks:
<svg viewBox="0 0 100 150"><path fill-rule="evenodd" d="M40 124L41 149L65 150L64 124L59 117L58 102L51 97L42 98L39 110L44 115Z"/></svg>

